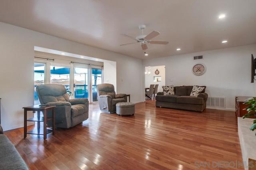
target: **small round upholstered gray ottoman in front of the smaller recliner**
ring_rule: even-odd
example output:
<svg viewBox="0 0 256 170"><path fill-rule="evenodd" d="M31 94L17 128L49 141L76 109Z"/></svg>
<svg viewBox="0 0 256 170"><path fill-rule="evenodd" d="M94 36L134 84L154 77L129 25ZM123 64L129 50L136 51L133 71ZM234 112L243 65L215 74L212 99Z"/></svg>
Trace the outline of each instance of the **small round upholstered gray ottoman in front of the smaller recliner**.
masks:
<svg viewBox="0 0 256 170"><path fill-rule="evenodd" d="M120 102L116 104L116 114L119 115L134 115L135 104L131 102Z"/></svg>

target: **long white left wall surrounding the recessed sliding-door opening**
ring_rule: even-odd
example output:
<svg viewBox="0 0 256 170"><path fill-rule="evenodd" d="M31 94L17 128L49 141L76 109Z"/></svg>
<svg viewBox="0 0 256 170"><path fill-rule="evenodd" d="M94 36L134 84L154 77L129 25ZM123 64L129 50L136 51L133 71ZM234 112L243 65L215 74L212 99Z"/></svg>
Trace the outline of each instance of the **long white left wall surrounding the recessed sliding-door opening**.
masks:
<svg viewBox="0 0 256 170"><path fill-rule="evenodd" d="M3 22L0 22L0 30L1 125L4 130L22 127L22 107L33 104L34 46L115 61L116 91L131 94L132 102L144 101L142 60Z"/></svg>

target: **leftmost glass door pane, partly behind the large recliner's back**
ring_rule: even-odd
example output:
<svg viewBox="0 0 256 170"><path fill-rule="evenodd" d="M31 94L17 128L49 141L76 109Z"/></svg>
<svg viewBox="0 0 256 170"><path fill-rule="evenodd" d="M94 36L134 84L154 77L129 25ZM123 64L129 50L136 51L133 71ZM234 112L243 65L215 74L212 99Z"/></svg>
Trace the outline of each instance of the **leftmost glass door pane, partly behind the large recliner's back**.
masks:
<svg viewBox="0 0 256 170"><path fill-rule="evenodd" d="M36 86L45 84L45 63L34 62L34 105L40 104Z"/></svg>

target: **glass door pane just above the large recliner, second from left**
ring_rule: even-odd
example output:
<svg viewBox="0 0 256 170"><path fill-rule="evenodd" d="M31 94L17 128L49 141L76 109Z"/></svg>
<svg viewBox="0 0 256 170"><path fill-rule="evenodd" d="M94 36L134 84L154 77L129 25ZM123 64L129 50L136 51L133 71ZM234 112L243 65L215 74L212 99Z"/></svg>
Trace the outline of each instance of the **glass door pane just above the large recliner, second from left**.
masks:
<svg viewBox="0 0 256 170"><path fill-rule="evenodd" d="M50 66L50 80L52 84L64 85L70 91L70 68L64 66Z"/></svg>

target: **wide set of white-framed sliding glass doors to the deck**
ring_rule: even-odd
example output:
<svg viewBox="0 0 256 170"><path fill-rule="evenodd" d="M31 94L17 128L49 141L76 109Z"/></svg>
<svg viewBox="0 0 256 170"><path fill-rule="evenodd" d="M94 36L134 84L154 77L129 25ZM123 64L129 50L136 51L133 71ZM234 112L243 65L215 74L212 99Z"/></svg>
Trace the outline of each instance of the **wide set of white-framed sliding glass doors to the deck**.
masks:
<svg viewBox="0 0 256 170"><path fill-rule="evenodd" d="M103 67L91 64L36 60L34 62L34 104L40 104L36 86L61 84L71 92L71 98L88 98L97 102L97 84L103 83Z"/></svg>

